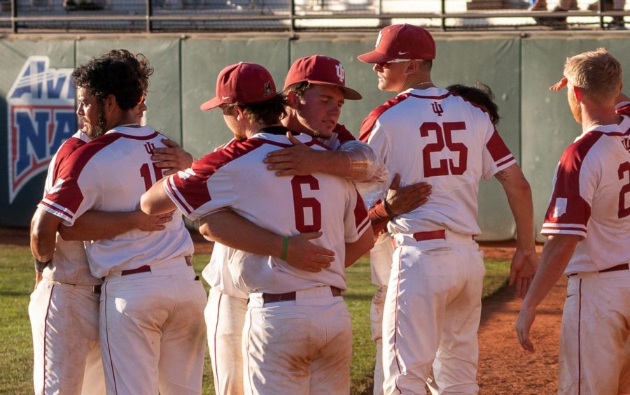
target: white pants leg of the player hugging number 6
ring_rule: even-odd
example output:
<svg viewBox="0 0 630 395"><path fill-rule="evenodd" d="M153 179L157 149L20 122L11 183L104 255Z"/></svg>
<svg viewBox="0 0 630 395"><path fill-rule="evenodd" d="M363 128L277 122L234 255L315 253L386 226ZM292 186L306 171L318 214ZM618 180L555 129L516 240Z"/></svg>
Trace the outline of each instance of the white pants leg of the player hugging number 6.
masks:
<svg viewBox="0 0 630 395"><path fill-rule="evenodd" d="M217 395L244 394L241 336L246 313L247 299L210 289L204 315L214 375L214 392Z"/></svg>

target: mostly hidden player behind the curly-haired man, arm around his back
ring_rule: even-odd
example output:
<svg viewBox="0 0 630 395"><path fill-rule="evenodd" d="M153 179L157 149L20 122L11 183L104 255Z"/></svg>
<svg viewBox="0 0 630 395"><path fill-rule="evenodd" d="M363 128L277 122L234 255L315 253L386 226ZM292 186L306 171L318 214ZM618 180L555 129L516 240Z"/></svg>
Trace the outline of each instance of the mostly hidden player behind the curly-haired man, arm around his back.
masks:
<svg viewBox="0 0 630 395"><path fill-rule="evenodd" d="M142 117L144 110L144 101L134 108L137 120ZM44 194L48 194L55 185L63 161L73 150L90 140L90 136L79 130L62 143L50 161ZM172 143L169 141L169 144ZM168 150L165 152L166 158L173 164L179 164L180 157L183 157L179 153L179 145ZM73 227L59 228L52 261L43 270L41 263L36 266L36 285L29 302L36 394L105 392L99 347L99 294L102 280L90 274L85 249L79 240L110 238L132 229L162 230L163 223L171 220L171 217L168 214L153 217L141 211L91 211L78 218ZM68 326L69 322L73 322L73 325Z"/></svg>

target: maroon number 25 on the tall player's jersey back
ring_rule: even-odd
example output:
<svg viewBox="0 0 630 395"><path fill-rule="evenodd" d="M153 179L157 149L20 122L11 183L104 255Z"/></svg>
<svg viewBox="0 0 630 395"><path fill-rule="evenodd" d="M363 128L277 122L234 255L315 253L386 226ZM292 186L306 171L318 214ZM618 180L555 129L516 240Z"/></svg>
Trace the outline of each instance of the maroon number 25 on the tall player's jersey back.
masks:
<svg viewBox="0 0 630 395"><path fill-rule="evenodd" d="M435 132L435 143L429 143L422 150L422 162L425 177L435 177L437 175L462 175L466 171L466 161L468 160L468 148L463 143L453 143L451 134L453 131L465 131L464 122L444 122L442 127L437 122L424 122L420 127L420 136L428 137L429 132ZM451 152L457 152L459 157L457 166L454 160L440 159L437 166L431 163L431 152L442 152L444 146Z"/></svg>

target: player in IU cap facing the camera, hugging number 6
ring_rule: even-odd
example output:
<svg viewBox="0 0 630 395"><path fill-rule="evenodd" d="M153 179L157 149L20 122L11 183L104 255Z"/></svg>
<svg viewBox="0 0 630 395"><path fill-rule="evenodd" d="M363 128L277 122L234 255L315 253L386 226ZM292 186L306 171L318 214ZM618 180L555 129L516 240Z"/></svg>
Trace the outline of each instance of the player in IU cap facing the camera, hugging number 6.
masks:
<svg viewBox="0 0 630 395"><path fill-rule="evenodd" d="M279 175L309 175L315 171L364 180L361 190L377 189L379 180L386 179L380 160L365 143L360 143L343 125L337 124L344 99L358 99L360 94L345 85L344 69L337 59L313 55L297 59L290 67L285 80L283 96L288 100L287 115L282 122L291 130L318 137L319 141L333 148L332 151L311 150L295 137L290 148L269 152L265 159L269 169ZM330 166L335 164L335 166ZM380 181L382 183L382 181ZM417 186L409 186L398 199L397 206L416 200ZM421 191L423 192L423 191ZM373 192L372 192L373 194ZM219 259L223 245L257 254L279 257L283 236L256 227L230 210L207 215L200 221L202 234L219 241L222 245L213 252L212 261L204 271L204 278L211 284L209 304L206 309L211 360L218 394L239 394L242 369L234 344L240 338L246 311L246 294L235 291L227 271L227 259ZM248 239L242 234L252 235ZM309 271L319 271L332 258L325 257L329 250L308 242L318 233L304 233L290 238L286 261ZM221 250L218 250L221 248ZM311 258L312 257L312 258ZM223 269L221 269L223 267ZM215 273L212 273L212 271ZM222 355L229 357L221 357Z"/></svg>

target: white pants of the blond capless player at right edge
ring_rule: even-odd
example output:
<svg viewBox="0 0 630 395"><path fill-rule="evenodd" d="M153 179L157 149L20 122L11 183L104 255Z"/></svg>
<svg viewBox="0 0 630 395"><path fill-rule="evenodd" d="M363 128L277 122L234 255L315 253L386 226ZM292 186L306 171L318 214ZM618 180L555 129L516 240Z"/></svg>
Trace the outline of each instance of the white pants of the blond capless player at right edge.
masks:
<svg viewBox="0 0 630 395"><path fill-rule="evenodd" d="M630 393L630 271L568 278L558 394Z"/></svg>

